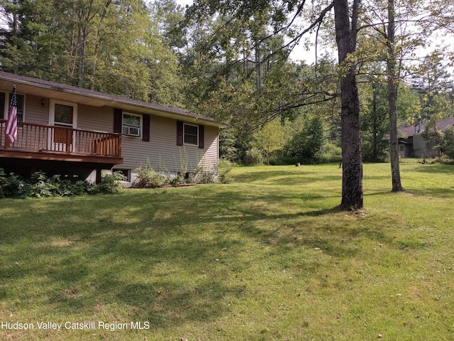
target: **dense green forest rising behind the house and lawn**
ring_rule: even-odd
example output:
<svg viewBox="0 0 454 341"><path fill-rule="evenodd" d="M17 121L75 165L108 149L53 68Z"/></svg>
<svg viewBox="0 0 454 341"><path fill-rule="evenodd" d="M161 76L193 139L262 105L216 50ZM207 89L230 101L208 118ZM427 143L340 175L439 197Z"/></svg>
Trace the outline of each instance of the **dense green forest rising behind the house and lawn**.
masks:
<svg viewBox="0 0 454 341"><path fill-rule="evenodd" d="M237 163L345 164L348 129L392 159L394 126L454 117L454 5L348 2L0 0L0 67L214 117Z"/></svg>

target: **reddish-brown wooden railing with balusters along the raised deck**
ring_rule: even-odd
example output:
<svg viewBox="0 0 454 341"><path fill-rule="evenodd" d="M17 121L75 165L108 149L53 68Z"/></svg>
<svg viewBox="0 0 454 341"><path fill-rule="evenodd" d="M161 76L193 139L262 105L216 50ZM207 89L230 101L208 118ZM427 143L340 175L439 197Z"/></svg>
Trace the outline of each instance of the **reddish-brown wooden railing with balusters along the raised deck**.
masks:
<svg viewBox="0 0 454 341"><path fill-rule="evenodd" d="M0 119L0 149L121 157L120 134L18 122L17 140L10 144L5 129L6 120Z"/></svg>

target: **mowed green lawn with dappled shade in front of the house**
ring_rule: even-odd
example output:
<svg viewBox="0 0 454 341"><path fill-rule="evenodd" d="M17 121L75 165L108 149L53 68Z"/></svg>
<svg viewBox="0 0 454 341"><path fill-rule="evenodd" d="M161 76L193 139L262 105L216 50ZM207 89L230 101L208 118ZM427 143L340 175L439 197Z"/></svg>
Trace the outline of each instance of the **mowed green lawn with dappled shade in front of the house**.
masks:
<svg viewBox="0 0 454 341"><path fill-rule="evenodd" d="M333 164L0 200L0 323L34 327L0 339L453 340L454 166L401 172L390 193L389 164L365 164L354 213Z"/></svg>

